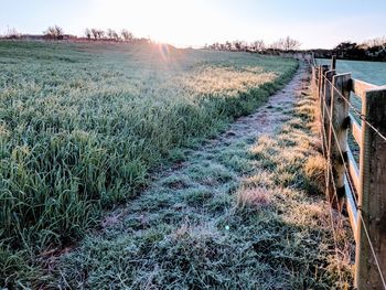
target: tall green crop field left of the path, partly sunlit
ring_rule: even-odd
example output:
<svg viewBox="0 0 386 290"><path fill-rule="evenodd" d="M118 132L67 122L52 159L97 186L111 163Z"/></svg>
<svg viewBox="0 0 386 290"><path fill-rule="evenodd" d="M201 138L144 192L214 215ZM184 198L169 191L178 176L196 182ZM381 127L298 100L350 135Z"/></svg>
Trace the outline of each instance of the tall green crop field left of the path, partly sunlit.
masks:
<svg viewBox="0 0 386 290"><path fill-rule="evenodd" d="M10 41L0 64L0 287L31 279L40 253L82 237L297 67L247 53Z"/></svg>

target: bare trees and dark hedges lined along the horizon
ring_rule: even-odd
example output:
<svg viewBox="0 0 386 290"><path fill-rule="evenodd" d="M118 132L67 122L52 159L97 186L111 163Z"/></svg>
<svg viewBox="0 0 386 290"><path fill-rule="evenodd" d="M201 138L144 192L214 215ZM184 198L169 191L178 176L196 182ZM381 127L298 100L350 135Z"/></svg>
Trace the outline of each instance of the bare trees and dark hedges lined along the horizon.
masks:
<svg viewBox="0 0 386 290"><path fill-rule="evenodd" d="M114 29L86 28L84 35L65 34L63 28L58 25L49 26L41 35L22 34L17 29L8 29L0 39L44 39L44 40L87 40L87 41L124 41L124 42L150 42L149 39L138 39L127 29L116 31ZM238 52L258 52L275 54L279 52L299 52L300 42L287 36L278 41L266 44L262 40L254 42L226 41L225 43L213 43L205 45L204 49L216 51L238 51ZM378 37L365 41L363 43L342 42L332 50L308 50L303 52L313 52L315 57L330 58L336 55L341 60L356 61L380 61L386 62L386 37Z"/></svg>

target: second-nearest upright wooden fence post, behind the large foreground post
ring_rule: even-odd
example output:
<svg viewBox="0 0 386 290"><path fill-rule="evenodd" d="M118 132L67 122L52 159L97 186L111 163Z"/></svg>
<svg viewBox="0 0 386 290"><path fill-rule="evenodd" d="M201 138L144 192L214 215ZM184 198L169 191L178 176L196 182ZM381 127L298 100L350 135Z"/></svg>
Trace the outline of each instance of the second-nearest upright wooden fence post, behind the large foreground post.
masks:
<svg viewBox="0 0 386 290"><path fill-rule="evenodd" d="M349 117L349 104L342 96L347 100L350 99L350 82L351 74L334 75L332 77L332 92L331 92L331 117L332 117L332 128L329 131L330 140L330 158L332 160L332 171L333 179L336 186L337 201L336 205L340 211L342 211L345 190L344 190L344 162L345 154L347 153L347 129L350 125ZM336 139L333 135L334 130L336 132ZM337 141L337 142L336 142ZM340 150L342 150L343 159Z"/></svg>

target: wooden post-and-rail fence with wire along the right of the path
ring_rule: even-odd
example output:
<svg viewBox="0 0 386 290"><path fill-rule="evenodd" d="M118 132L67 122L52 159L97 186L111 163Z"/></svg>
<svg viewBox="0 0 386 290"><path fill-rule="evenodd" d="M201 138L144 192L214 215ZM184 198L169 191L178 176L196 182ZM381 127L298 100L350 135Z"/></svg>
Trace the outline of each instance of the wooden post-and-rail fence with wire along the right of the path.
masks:
<svg viewBox="0 0 386 290"><path fill-rule="evenodd" d="M339 212L346 206L356 244L355 287L386 290L386 86L336 74L335 66L335 57L330 65L311 61L326 197Z"/></svg>

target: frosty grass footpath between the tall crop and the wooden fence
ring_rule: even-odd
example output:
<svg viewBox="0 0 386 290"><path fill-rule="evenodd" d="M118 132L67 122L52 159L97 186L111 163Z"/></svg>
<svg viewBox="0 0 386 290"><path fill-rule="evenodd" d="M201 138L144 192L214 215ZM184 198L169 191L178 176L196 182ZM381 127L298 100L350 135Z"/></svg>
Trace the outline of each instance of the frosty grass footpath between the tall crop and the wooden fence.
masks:
<svg viewBox="0 0 386 290"><path fill-rule="evenodd" d="M329 206L320 194L324 163L312 130L314 110L301 64L255 114L108 214L97 233L56 261L54 286L344 287L350 260L337 265Z"/></svg>

